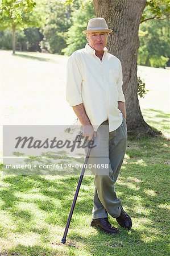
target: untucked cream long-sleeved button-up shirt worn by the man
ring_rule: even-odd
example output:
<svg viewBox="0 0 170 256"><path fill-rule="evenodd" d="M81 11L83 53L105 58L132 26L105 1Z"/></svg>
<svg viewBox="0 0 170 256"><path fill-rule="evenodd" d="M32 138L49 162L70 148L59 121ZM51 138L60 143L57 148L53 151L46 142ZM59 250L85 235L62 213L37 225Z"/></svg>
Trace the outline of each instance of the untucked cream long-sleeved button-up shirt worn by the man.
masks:
<svg viewBox="0 0 170 256"><path fill-rule="evenodd" d="M66 99L71 106L84 105L94 131L107 119L109 131L114 131L122 123L118 101L125 102L121 61L106 47L102 61L95 52L86 44L72 53L67 64Z"/></svg>

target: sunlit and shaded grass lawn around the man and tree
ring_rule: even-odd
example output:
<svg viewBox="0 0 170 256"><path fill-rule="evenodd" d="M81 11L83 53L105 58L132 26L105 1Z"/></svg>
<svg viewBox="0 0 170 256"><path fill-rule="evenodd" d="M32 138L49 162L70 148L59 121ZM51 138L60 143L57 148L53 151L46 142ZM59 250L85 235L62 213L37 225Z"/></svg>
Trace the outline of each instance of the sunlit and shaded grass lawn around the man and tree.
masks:
<svg viewBox="0 0 170 256"><path fill-rule="evenodd" d="M3 51L2 59L3 95L8 96L3 100L4 124L72 122L74 115L64 102L67 57L40 53L11 56ZM140 67L140 72L144 69ZM148 74L159 73L159 69L147 70ZM160 72L163 76L168 74L168 71ZM160 101L157 101L155 92L159 92L159 81L155 81L154 90L149 88L148 82L149 78L149 99L142 99L142 112L146 121L163 131L163 135L128 141L125 161L115 185L124 209L132 217L132 229L119 228L119 234L110 235L90 227L94 185L93 176L86 175L67 243L63 245L60 242L78 176L5 176L2 172L0 255L169 255L168 92L158 93ZM152 105L148 105L148 101ZM118 226L115 219L109 217L109 220Z"/></svg>

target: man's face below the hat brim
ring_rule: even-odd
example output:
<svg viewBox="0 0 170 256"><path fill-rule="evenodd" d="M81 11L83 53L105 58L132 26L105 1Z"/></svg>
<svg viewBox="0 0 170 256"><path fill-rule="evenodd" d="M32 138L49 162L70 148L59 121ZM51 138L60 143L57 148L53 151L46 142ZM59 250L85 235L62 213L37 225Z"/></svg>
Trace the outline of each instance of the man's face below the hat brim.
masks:
<svg viewBox="0 0 170 256"><path fill-rule="evenodd" d="M107 32L92 32L86 34L89 46L96 51L103 51L107 44Z"/></svg>

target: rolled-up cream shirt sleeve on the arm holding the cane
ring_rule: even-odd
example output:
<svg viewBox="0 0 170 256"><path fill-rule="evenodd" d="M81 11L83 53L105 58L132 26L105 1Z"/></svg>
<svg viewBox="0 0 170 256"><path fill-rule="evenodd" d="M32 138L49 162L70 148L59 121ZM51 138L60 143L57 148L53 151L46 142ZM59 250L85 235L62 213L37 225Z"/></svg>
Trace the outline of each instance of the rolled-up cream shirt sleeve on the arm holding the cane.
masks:
<svg viewBox="0 0 170 256"><path fill-rule="evenodd" d="M66 100L68 101L70 106L76 106L82 103L82 75L80 72L80 64L78 64L77 57L78 56L73 53L67 63Z"/></svg>

